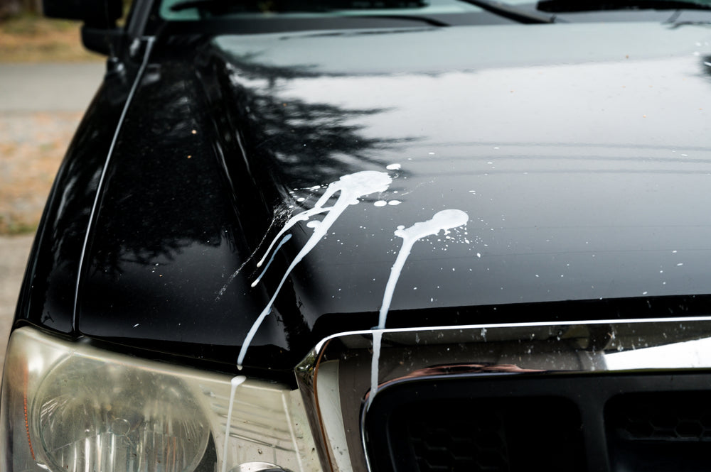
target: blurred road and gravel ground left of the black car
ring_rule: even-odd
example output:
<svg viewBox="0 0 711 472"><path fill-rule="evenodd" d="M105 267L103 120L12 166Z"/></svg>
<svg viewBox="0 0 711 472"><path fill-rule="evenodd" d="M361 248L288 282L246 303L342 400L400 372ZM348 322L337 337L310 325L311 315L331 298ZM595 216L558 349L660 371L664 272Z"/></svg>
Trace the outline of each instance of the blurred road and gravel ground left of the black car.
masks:
<svg viewBox="0 0 711 472"><path fill-rule="evenodd" d="M103 70L102 63L0 64L0 362L34 229Z"/></svg>

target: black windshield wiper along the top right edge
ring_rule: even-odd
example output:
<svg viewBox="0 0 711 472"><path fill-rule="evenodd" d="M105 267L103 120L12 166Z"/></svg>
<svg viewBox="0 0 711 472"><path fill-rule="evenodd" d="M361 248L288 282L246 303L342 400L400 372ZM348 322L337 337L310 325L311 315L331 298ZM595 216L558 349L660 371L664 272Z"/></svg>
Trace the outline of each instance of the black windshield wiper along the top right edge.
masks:
<svg viewBox="0 0 711 472"><path fill-rule="evenodd" d="M540 11L551 13L604 10L711 10L711 4L693 0L540 0Z"/></svg>

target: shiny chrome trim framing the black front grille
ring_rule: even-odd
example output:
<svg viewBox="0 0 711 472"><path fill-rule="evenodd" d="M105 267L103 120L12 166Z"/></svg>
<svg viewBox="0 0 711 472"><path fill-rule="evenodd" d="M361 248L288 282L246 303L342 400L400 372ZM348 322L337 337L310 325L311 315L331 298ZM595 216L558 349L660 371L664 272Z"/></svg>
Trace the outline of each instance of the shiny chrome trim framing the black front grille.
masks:
<svg viewBox="0 0 711 472"><path fill-rule="evenodd" d="M321 454L333 471L368 472L363 444L361 412L368 398L370 362L373 358L373 330L349 331L328 336L316 345L296 368L309 420L321 431ZM530 322L437 326L428 328L383 329L378 388L414 378L453 375L491 376L611 373L647 369L711 368L711 356L698 363L680 359L676 365L662 366L653 356L638 356L626 366L611 366L616 353L646 353L644 348L675 344L682 351L693 349L686 341L711 341L711 316L665 317L656 319L604 319L574 322ZM341 400L347 444L332 444L324 412L324 385L319 370L328 361L338 363L338 375L328 380L329 389ZM331 407L332 408L332 407ZM333 428L333 425L330 426ZM338 463L336 455L348 449L350 461ZM336 451L335 449L338 449Z"/></svg>

